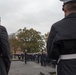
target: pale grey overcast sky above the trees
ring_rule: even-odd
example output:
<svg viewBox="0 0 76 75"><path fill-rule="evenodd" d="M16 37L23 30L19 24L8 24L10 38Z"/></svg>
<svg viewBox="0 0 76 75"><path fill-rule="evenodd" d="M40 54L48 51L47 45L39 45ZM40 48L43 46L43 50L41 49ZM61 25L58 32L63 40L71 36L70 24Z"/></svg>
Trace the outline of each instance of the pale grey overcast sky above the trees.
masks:
<svg viewBox="0 0 76 75"><path fill-rule="evenodd" d="M59 0L0 0L0 17L9 34L24 27L45 34L64 13Z"/></svg>

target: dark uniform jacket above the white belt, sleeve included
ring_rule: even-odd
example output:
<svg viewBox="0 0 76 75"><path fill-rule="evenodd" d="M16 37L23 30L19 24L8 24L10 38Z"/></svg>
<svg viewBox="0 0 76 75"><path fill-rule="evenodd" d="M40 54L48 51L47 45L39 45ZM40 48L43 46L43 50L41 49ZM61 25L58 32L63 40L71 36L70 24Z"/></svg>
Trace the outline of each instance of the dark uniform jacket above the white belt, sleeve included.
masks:
<svg viewBox="0 0 76 75"><path fill-rule="evenodd" d="M76 53L76 13L53 24L47 41L50 59L58 60L60 55Z"/></svg>

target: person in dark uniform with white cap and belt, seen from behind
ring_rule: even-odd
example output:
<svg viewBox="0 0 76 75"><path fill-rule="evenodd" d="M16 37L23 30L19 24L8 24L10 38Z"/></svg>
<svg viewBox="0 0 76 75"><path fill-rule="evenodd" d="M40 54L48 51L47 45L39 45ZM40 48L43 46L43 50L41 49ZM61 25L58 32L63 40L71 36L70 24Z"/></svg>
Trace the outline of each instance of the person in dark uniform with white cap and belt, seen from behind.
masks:
<svg viewBox="0 0 76 75"><path fill-rule="evenodd" d="M65 18L52 25L47 53L56 60L57 75L76 75L76 0L60 1Z"/></svg>

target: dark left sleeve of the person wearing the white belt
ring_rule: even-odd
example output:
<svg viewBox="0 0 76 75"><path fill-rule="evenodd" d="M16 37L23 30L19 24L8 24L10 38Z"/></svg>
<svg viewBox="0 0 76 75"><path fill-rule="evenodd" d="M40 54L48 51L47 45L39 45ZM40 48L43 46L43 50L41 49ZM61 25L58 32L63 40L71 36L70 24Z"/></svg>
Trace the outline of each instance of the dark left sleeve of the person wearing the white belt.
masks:
<svg viewBox="0 0 76 75"><path fill-rule="evenodd" d="M47 54L49 59L58 59L58 50L57 47L55 45L55 40L56 40L56 30L55 27L51 27L51 31L49 33L49 37L48 37L48 41L47 41Z"/></svg>

